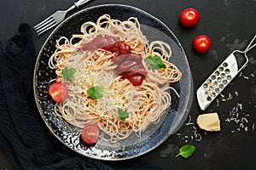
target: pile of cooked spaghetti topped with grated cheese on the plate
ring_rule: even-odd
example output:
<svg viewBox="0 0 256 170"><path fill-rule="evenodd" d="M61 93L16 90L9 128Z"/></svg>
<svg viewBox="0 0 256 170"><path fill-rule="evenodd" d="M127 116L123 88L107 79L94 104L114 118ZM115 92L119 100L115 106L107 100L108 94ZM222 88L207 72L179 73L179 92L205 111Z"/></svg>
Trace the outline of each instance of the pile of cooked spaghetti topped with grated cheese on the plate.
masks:
<svg viewBox="0 0 256 170"><path fill-rule="evenodd" d="M55 69L56 82L65 83L69 91L67 99L56 103L55 113L76 127L96 123L101 129L101 139L108 143L126 139L131 133L140 136L151 123L160 121L172 103L169 84L182 77L176 65L169 61L172 55L170 46L160 41L149 43L134 17L121 21L104 14L96 23L84 23L81 32L70 40L61 37L49 59L49 67ZM107 36L125 42L131 47L132 54L142 56L147 76L140 86L133 86L117 74L117 65L112 61L114 54L110 51L103 48L81 50L85 43L96 37ZM145 61L149 55L160 56L166 68L149 68ZM64 67L75 68L72 82L63 77ZM102 87L101 99L92 99L86 94L86 90L94 86ZM118 108L129 113L125 120L120 119Z"/></svg>

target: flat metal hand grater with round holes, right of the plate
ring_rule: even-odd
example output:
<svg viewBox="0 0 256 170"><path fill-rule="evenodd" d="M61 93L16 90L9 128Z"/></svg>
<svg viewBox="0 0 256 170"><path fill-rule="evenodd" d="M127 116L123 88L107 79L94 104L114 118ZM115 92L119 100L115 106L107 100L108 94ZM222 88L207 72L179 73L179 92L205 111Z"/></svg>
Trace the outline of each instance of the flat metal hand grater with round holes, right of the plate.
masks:
<svg viewBox="0 0 256 170"><path fill-rule="evenodd" d="M197 101L202 111L205 111L212 101L220 94L234 77L247 65L247 52L256 46L253 44L256 35L244 51L235 50L212 72L206 82L197 89Z"/></svg>

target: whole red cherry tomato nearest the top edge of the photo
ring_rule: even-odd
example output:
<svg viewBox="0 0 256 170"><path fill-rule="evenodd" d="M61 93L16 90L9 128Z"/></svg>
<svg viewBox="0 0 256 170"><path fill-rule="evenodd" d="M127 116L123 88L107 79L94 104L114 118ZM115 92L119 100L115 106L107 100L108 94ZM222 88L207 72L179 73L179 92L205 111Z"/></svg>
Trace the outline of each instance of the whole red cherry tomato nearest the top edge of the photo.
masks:
<svg viewBox="0 0 256 170"><path fill-rule="evenodd" d="M200 20L200 14L195 8L185 8L179 16L179 22L185 27L195 26Z"/></svg>

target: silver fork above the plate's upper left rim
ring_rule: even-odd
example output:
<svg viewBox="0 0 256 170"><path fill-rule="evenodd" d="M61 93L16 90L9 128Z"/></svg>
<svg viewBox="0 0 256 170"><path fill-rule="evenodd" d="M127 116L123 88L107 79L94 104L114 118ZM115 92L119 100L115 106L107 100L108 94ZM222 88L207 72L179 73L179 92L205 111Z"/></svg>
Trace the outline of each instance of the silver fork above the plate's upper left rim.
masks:
<svg viewBox="0 0 256 170"><path fill-rule="evenodd" d="M67 10L56 11L55 14L50 15L47 19L43 20L33 28L38 33L38 35L40 35L44 33L44 31L48 31L50 28L61 23L61 21L65 19L65 16L69 11L73 10L74 8L79 8L80 6L84 5L84 3L88 3L90 1L91 0L79 0L78 2L73 3L73 6L71 6Z"/></svg>

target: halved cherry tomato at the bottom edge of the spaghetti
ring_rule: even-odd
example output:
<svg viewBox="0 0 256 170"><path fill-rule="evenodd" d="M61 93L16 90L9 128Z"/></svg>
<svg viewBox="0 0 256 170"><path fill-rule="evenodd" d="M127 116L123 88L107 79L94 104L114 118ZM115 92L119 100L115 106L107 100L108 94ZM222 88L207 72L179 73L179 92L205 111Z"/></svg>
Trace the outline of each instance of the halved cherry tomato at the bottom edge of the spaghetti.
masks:
<svg viewBox="0 0 256 170"><path fill-rule="evenodd" d="M81 139L86 144L95 144L99 139L99 133L100 129L96 124L87 124L82 130Z"/></svg>

